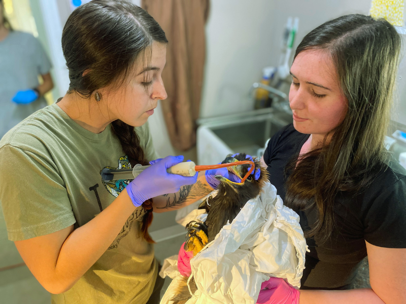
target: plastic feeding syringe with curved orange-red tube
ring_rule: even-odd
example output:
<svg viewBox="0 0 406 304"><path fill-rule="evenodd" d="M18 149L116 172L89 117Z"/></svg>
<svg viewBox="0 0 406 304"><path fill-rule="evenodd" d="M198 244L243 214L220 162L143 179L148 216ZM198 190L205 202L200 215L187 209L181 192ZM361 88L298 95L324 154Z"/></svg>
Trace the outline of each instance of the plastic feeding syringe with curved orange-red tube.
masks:
<svg viewBox="0 0 406 304"><path fill-rule="evenodd" d="M232 167L242 164L249 164L251 165L250 170L241 180L243 183L247 177L254 171L255 164L251 161L238 161L233 163L226 163L226 164L218 164L218 165L208 165L208 166L197 166L194 162L184 162L179 163L171 168L166 169L167 173L171 174L178 174L182 176L194 176L196 172L217 169L217 168L225 168L225 167ZM141 174L145 169L150 167L151 165L142 166L141 164L137 164L132 169L108 169L105 168L101 170L100 175L101 179L105 182L109 182L112 180L119 180L119 179L133 179L136 178L138 175Z"/></svg>

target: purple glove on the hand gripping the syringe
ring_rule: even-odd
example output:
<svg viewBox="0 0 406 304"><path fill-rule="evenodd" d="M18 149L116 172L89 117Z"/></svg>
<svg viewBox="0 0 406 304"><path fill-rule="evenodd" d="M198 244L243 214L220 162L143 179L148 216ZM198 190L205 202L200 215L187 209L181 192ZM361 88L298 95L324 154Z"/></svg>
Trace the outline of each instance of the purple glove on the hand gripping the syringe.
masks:
<svg viewBox="0 0 406 304"><path fill-rule="evenodd" d="M167 168L183 161L183 156L167 156L156 160L151 167L145 169L134 178L126 187L132 204L138 207L146 200L167 193L176 193L181 186L191 185L197 181L197 174L186 177L166 172Z"/></svg>

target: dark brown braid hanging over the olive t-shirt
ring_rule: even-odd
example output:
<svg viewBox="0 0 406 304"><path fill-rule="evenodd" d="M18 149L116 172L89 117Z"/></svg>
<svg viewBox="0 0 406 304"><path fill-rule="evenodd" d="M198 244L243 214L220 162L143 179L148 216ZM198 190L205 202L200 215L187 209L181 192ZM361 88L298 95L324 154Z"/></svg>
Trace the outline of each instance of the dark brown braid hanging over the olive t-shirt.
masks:
<svg viewBox="0 0 406 304"><path fill-rule="evenodd" d="M111 125L114 134L120 140L121 147L123 148L125 155L127 155L131 166L134 167L137 164L143 166L149 165L148 161L144 159L144 150L140 146L140 138L134 131L134 127L131 127L120 120L112 122ZM148 227L152 223L153 218L152 200L145 201L142 206L147 211L147 214L143 217L141 227L142 235L148 243L155 243L148 233Z"/></svg>

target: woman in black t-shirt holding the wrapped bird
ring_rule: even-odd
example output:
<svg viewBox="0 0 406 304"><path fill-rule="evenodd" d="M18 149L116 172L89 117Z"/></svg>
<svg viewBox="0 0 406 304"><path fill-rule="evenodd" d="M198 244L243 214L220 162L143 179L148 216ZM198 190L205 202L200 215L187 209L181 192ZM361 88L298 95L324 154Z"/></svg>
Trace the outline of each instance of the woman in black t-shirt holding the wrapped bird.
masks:
<svg viewBox="0 0 406 304"><path fill-rule="evenodd" d="M394 27L363 15L324 23L296 50L294 122L263 162L307 237L300 304L406 303L406 170L383 145L399 53ZM366 255L371 289L326 291L350 289ZM267 303L297 303L285 284Z"/></svg>

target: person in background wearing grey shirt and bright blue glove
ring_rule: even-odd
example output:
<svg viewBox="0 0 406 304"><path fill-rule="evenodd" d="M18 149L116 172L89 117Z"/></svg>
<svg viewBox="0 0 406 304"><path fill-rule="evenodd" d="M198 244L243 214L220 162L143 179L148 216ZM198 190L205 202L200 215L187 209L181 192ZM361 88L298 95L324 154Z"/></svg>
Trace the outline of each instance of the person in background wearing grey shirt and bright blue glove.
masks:
<svg viewBox="0 0 406 304"><path fill-rule="evenodd" d="M41 43L31 34L12 29L0 0L0 138L47 105L44 94L54 86L50 68Z"/></svg>

